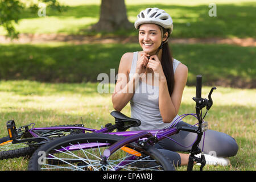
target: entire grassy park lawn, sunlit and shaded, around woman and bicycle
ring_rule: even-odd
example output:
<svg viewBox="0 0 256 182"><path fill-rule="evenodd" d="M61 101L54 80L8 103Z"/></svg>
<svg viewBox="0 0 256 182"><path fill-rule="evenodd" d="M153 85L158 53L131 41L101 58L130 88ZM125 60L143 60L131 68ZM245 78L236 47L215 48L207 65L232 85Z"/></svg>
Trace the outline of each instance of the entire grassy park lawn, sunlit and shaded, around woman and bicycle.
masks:
<svg viewBox="0 0 256 182"><path fill-rule="evenodd" d="M7 135L11 119L18 126L83 123L96 129L114 122L112 94L97 92L97 76L110 76L110 69L117 74L123 53L141 50L138 32L90 30L100 19L100 0L58 2L65 7L46 6L46 16L20 11L13 23L19 39L6 36L0 25L0 137ZM216 4L217 16L209 16L210 3ZM179 114L195 113L196 75L203 75L203 97L217 87L209 129L231 135L240 148L229 166L205 169L255 170L256 2L126 0L125 5L131 23L146 7L164 9L174 20L169 44L175 59L189 69ZM129 104L122 113L130 116ZM25 158L2 160L0 170L26 170L27 163Z"/></svg>

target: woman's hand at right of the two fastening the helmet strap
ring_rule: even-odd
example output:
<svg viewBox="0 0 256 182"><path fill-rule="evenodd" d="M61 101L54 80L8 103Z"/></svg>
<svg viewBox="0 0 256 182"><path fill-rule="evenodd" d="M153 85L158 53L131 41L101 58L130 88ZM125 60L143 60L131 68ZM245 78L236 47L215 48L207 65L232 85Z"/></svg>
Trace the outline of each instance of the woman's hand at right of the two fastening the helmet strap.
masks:
<svg viewBox="0 0 256 182"><path fill-rule="evenodd" d="M154 75L159 77L159 81L166 81L166 76L164 75L163 68L160 60L158 59L158 56L150 56L147 68L150 68L154 72Z"/></svg>

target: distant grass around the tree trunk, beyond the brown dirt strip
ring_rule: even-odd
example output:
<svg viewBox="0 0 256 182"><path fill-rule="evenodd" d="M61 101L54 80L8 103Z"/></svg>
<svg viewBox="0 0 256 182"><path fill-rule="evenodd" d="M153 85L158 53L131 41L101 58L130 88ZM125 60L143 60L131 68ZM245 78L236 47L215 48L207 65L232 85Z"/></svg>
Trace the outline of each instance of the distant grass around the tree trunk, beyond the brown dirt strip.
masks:
<svg viewBox="0 0 256 182"><path fill-rule="evenodd" d="M24 12L20 15L16 29L21 33L50 34L65 33L79 35L124 35L136 36L132 30L119 30L113 33L90 32L88 27L100 18L100 1L61 1L68 5L61 13L46 9L46 17L37 13ZM164 9L174 20L175 38L256 38L254 18L255 2L253 1L214 1L217 5L217 17L210 17L209 3L212 1L126 1L127 16L135 22L139 11L146 7ZM245 28L246 27L246 28ZM0 35L6 32L0 26Z"/></svg>

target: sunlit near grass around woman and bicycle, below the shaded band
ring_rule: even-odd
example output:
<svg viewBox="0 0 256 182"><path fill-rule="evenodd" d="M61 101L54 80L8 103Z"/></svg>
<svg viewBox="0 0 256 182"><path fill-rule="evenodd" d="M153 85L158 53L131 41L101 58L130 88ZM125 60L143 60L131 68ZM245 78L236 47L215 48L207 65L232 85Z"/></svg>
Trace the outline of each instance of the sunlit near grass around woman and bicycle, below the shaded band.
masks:
<svg viewBox="0 0 256 182"><path fill-rule="evenodd" d="M35 81L0 81L0 137L7 135L6 121L17 126L36 123L36 127L84 123L100 129L114 122L111 94L99 94L97 83L49 84ZM113 86L113 85L112 85ZM207 97L210 88L203 87ZM207 115L209 129L231 135L237 140L238 154L230 158L230 166L206 166L206 170L255 170L255 89L218 87L212 94L213 106ZM179 114L195 113L195 87L186 86ZM128 104L122 113L130 116ZM196 123L195 118L184 118ZM0 170L26 170L27 159L0 161ZM195 169L199 169L195 167ZM185 167L178 168L185 170Z"/></svg>

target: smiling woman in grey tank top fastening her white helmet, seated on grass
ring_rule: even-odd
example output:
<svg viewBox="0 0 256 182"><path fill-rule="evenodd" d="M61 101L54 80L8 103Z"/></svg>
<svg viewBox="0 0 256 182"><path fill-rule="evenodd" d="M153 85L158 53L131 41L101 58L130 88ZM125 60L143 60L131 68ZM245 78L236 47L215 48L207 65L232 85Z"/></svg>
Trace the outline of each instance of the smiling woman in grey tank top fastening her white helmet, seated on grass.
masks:
<svg viewBox="0 0 256 182"><path fill-rule="evenodd" d="M131 130L164 129L178 117L188 68L171 55L168 38L173 30L172 18L164 10L147 8L141 11L134 26L139 30L139 44L143 51L127 52L122 56L112 96L113 107L121 111L130 102L131 117L142 122L141 126ZM153 92L149 93L149 90ZM181 125L188 124L179 122L177 126ZM195 134L180 131L172 138L183 146L189 146L195 137ZM169 139L160 141L156 147L176 166L188 164L189 154L175 151L191 148L181 147ZM212 130L205 133L206 154L216 152L218 156L227 157L236 155L237 150L232 137ZM210 155L205 155L205 158L208 164L227 164L224 158Z"/></svg>

